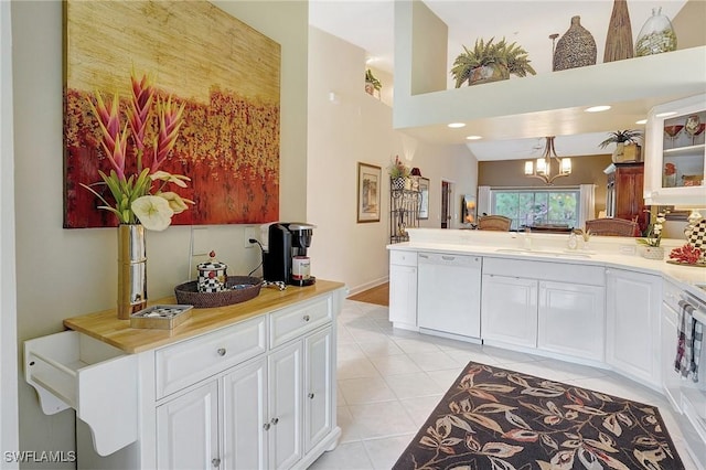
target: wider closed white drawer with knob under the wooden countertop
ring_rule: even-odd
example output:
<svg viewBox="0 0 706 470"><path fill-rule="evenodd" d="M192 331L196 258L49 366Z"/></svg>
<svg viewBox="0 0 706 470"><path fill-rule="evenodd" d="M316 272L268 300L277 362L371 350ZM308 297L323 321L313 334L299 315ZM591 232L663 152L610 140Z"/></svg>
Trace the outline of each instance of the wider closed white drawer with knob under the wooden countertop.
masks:
<svg viewBox="0 0 706 470"><path fill-rule="evenodd" d="M267 351L267 316L157 350L161 398Z"/></svg>

